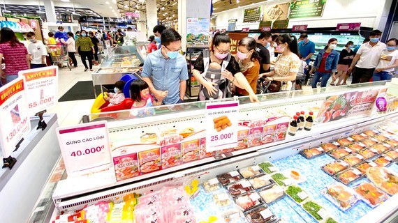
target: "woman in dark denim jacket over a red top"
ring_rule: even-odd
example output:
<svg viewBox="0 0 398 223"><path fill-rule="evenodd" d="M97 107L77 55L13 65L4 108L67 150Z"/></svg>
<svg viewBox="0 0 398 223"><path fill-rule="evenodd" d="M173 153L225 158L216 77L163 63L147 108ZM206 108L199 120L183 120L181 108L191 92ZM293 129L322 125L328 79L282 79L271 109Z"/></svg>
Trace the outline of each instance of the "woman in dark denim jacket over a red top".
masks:
<svg viewBox="0 0 398 223"><path fill-rule="evenodd" d="M311 86L313 89L316 89L316 84L318 84L320 78L322 78L322 80L320 81L320 87L325 87L332 73L335 73L337 71L339 53L334 50L336 46L337 39L330 38L330 40L327 41L327 46L325 47L325 49L322 49L320 50L320 52L318 52L314 65L309 72L311 74L314 70L316 70L311 82Z"/></svg>

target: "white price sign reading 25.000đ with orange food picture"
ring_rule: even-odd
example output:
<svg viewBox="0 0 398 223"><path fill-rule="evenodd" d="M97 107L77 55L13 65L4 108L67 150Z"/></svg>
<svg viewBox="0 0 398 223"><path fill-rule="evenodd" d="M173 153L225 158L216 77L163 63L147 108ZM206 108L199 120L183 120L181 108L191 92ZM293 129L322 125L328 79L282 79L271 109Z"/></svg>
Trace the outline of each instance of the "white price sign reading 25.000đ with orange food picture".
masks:
<svg viewBox="0 0 398 223"><path fill-rule="evenodd" d="M206 151L237 146L239 102L209 102L206 105Z"/></svg>

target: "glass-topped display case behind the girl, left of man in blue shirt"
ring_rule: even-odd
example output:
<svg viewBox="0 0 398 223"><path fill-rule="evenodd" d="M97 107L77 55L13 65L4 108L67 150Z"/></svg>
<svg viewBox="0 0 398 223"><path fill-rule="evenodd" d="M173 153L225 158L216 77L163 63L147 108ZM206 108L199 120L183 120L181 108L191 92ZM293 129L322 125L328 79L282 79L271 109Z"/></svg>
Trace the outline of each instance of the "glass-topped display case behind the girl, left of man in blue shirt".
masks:
<svg viewBox="0 0 398 223"><path fill-rule="evenodd" d="M126 74L141 78L140 66L144 63L145 57L146 44L144 42L113 48L110 54L103 59L101 67L91 75L95 95L98 95L96 85L115 84ZM103 88L101 87L102 92Z"/></svg>

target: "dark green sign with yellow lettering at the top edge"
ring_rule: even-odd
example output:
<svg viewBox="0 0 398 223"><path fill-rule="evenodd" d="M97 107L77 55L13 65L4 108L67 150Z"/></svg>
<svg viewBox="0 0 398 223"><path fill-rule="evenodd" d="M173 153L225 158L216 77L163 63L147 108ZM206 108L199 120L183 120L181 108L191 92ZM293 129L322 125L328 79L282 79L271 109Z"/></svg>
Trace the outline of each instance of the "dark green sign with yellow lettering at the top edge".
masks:
<svg viewBox="0 0 398 223"><path fill-rule="evenodd" d="M290 2L289 19L322 17L326 0L300 0Z"/></svg>

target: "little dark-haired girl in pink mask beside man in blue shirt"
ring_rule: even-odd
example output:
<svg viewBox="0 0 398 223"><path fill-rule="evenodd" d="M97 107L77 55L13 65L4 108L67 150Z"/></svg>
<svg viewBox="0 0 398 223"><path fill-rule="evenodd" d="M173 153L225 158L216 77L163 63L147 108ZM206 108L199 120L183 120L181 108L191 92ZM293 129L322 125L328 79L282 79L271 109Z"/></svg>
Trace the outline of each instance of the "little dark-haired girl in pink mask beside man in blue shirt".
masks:
<svg viewBox="0 0 398 223"><path fill-rule="evenodd" d="M163 91L162 96L167 96L168 91ZM147 82L142 79L135 79L130 85L130 96L134 101L130 110L130 117L151 116L155 114L155 110L144 109L146 107L154 107L161 105L162 101L154 100L154 97L149 93L149 86Z"/></svg>

